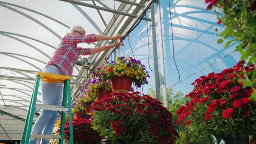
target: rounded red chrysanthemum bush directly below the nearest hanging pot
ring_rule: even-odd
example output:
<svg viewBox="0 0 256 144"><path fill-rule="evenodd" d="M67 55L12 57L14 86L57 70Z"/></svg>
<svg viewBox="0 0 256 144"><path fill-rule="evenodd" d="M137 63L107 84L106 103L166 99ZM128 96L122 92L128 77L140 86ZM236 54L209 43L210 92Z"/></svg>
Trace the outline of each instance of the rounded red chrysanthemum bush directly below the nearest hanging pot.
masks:
<svg viewBox="0 0 256 144"><path fill-rule="evenodd" d="M140 92L112 92L106 98L93 103L92 123L101 133L113 138L127 139L134 144L173 144L178 137L172 124L172 114L157 99ZM143 133L143 134L142 134ZM115 138L114 138L115 139ZM142 140L144 139L144 141Z"/></svg>

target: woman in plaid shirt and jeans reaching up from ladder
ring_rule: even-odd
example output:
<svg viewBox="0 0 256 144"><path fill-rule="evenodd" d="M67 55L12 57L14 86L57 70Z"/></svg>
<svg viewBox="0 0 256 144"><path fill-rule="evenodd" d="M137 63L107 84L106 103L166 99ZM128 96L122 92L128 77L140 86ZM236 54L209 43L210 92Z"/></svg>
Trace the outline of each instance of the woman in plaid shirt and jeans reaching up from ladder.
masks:
<svg viewBox="0 0 256 144"><path fill-rule="evenodd" d="M57 46L51 60L47 63L43 72L72 76L74 62L80 55L90 55L108 50L118 45L118 41L111 45L95 48L77 47L78 43L92 43L100 40L121 40L121 35L85 35L85 31L80 26L71 27L69 33L65 35ZM120 41L120 45L123 45ZM42 81L42 104L60 105L62 99L63 84L49 83ZM33 127L32 135L51 135L58 117L57 111L42 110L40 116ZM29 144L36 144L37 139L30 139ZM42 144L49 144L49 139L42 139Z"/></svg>

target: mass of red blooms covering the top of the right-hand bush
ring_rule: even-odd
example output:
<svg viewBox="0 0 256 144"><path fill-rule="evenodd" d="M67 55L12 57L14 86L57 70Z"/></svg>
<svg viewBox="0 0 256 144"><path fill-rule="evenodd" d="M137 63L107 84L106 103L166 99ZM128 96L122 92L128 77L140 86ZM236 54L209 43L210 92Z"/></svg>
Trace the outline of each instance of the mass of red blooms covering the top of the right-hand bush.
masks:
<svg viewBox="0 0 256 144"><path fill-rule="evenodd" d="M243 79L244 75L240 74L243 69L246 72L254 71L254 64L245 67L243 64L242 61L234 68L225 69L220 73L212 72L207 76L196 79L192 83L192 85L195 85L193 91L186 95L192 100L176 112L176 115L179 115L177 124L190 124L191 122L186 122L191 120L187 117L196 113L197 108L205 108L204 117L206 121L213 117L211 113L216 110L221 112L223 118L232 117L236 111L241 117L246 117L249 114L248 109L251 106L249 97L253 89L251 87L242 88L243 83L238 81ZM239 113L239 108L241 108L243 114ZM236 117L240 117L240 115Z"/></svg>

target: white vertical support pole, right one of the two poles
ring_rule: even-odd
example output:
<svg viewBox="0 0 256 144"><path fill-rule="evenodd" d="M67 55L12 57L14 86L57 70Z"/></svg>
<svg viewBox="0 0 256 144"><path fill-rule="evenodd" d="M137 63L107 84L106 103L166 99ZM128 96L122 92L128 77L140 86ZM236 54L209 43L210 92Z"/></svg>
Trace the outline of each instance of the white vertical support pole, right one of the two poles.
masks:
<svg viewBox="0 0 256 144"><path fill-rule="evenodd" d="M156 0L157 5L157 26L158 26L158 37L159 37L159 50L160 50L160 61L161 61L161 74L163 79L163 97L164 106L167 108L167 94L166 94L166 83L165 83L165 61L164 61L164 49L163 49L163 39L162 39L162 22L161 22L161 9L160 0Z"/></svg>

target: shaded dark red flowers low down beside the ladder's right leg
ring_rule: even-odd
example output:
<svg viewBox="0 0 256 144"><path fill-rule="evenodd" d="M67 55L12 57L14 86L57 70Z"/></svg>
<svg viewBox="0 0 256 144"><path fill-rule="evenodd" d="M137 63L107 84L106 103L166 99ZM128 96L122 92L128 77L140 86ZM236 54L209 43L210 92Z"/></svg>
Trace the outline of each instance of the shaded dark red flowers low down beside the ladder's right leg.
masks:
<svg viewBox="0 0 256 144"><path fill-rule="evenodd" d="M97 131L91 128L91 120L87 118L73 118L73 140L74 144L99 144L101 136ZM57 130L57 133L60 129ZM69 141L69 121L65 122L64 128L65 140Z"/></svg>

